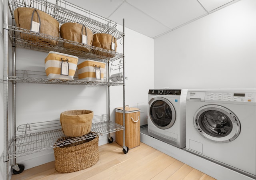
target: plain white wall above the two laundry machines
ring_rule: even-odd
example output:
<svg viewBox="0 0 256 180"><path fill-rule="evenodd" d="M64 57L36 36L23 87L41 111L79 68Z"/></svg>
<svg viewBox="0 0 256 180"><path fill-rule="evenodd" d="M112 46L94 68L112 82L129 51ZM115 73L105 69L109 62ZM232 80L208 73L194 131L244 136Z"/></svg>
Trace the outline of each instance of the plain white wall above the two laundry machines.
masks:
<svg viewBox="0 0 256 180"><path fill-rule="evenodd" d="M256 1L241 0L155 39L155 88L256 88Z"/></svg>

